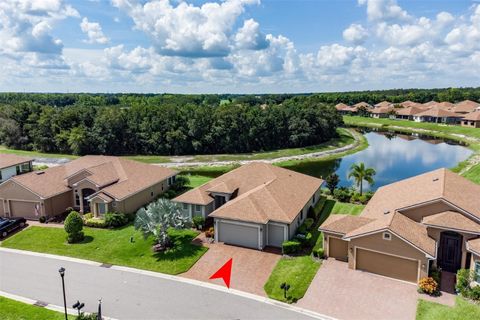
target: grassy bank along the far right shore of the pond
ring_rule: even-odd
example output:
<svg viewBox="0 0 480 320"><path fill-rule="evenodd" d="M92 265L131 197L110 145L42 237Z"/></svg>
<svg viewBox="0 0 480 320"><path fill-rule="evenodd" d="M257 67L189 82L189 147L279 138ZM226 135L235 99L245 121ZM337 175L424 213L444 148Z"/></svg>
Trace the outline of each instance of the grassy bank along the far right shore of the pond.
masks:
<svg viewBox="0 0 480 320"><path fill-rule="evenodd" d="M394 132L419 133L465 143L474 153L469 159L460 162L456 167L452 168L452 170L480 184L480 129L478 128L352 116L344 116L343 119L345 124L349 126L376 128Z"/></svg>

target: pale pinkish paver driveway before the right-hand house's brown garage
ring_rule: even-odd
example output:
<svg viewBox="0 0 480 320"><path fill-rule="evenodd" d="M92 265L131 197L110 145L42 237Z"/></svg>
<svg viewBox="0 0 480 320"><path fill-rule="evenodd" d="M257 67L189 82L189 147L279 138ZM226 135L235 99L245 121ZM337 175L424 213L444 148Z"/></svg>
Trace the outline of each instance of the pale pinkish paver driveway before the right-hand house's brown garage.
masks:
<svg viewBox="0 0 480 320"><path fill-rule="evenodd" d="M338 319L415 319L418 299L453 305L448 293L432 298L415 284L348 269L347 263L324 261L305 297L297 305Z"/></svg>

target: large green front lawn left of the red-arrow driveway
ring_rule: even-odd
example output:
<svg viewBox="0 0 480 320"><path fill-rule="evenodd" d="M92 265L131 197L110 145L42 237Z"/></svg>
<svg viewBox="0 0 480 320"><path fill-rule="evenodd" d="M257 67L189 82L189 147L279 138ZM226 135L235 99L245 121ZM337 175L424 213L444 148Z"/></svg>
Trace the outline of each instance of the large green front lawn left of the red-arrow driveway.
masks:
<svg viewBox="0 0 480 320"><path fill-rule="evenodd" d="M165 253L152 252L152 238L144 239L133 226L121 229L84 228L85 240L78 244L66 243L66 233L59 228L30 227L2 242L6 248L51 253L128 266L168 274L188 271L208 250L191 243L198 235L185 230L185 242L175 250ZM134 242L130 242L133 236Z"/></svg>

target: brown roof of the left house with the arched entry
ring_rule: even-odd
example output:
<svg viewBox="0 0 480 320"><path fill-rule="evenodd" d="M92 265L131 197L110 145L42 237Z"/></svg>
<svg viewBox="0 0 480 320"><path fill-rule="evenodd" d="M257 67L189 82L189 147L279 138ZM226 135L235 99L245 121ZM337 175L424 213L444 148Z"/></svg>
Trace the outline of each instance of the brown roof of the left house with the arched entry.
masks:
<svg viewBox="0 0 480 320"><path fill-rule="evenodd" d="M31 190L43 198L67 192L67 177L87 170L87 179L100 186L105 194L121 200L151 185L154 185L176 172L155 165L144 164L118 157L85 156L65 165L46 169L42 172L31 172L12 178L18 184Z"/></svg>

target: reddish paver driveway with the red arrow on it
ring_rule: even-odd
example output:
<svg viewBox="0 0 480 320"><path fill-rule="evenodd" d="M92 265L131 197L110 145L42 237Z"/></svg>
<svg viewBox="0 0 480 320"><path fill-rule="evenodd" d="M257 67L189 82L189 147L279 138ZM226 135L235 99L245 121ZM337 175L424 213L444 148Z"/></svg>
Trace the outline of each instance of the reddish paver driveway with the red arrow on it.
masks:
<svg viewBox="0 0 480 320"><path fill-rule="evenodd" d="M222 279L209 280L228 259L233 258L230 287L266 296L263 285L281 258L280 254L240 248L221 243L205 244L209 250L186 273L181 276L224 285Z"/></svg>

